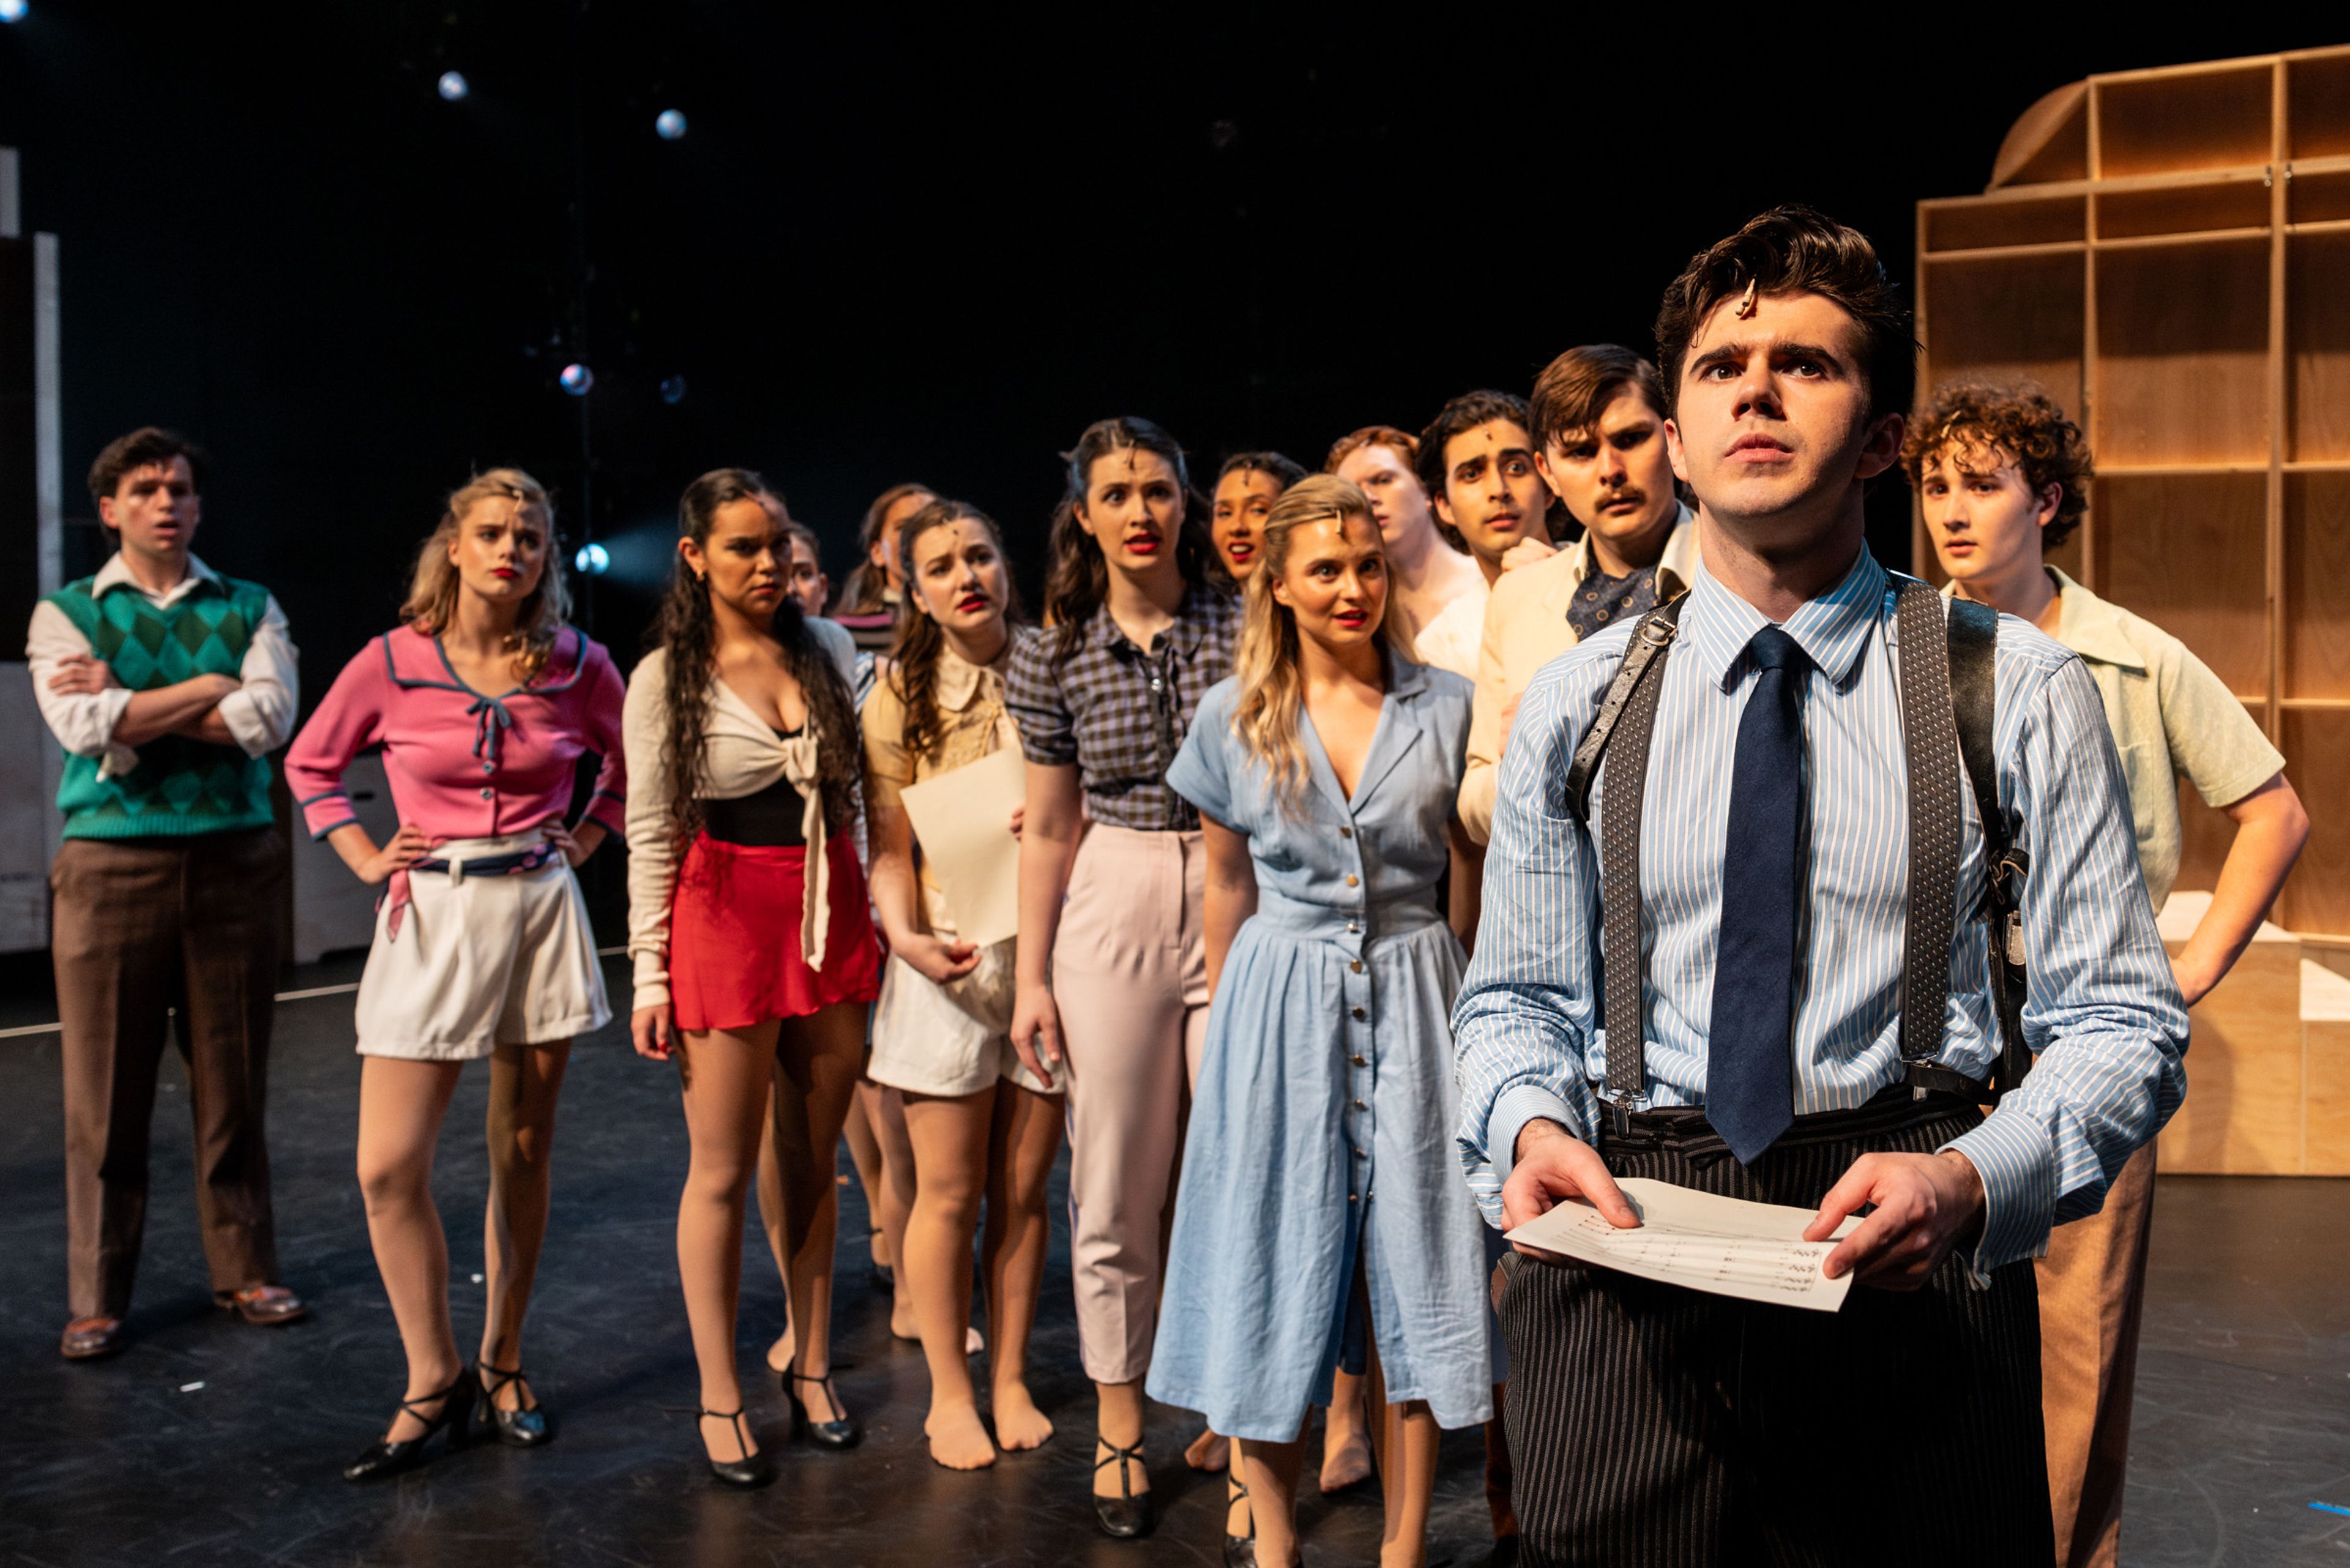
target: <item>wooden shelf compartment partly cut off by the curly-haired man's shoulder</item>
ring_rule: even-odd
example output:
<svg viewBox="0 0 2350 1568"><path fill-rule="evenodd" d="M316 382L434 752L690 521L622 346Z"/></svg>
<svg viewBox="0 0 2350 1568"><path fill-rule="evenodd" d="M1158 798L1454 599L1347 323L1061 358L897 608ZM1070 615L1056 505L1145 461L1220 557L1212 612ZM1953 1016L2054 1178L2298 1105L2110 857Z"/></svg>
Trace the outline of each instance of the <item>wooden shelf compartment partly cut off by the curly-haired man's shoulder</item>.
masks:
<svg viewBox="0 0 2350 1568"><path fill-rule="evenodd" d="M2230 691L2268 691L2268 475L2110 477L2092 487L2099 583ZM2265 703L2265 696L2263 696Z"/></svg>

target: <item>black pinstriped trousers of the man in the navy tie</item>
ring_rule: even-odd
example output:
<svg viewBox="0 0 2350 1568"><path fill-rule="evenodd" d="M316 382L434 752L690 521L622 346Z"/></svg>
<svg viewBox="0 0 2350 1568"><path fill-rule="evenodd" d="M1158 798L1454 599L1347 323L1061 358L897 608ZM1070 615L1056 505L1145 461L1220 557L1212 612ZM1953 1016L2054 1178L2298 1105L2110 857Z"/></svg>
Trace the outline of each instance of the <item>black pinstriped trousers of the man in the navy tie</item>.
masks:
<svg viewBox="0 0 2350 1568"><path fill-rule="evenodd" d="M1920 1112L1854 1135L1833 1128L1856 1112L1800 1117L1753 1168L1645 1119L1600 1154L1617 1175L1810 1208L1861 1154L1927 1154L1981 1121ZM1528 1563L2054 1561L2028 1262L1976 1291L1950 1258L1922 1291L1854 1286L1833 1314L1523 1253L1502 1269Z"/></svg>

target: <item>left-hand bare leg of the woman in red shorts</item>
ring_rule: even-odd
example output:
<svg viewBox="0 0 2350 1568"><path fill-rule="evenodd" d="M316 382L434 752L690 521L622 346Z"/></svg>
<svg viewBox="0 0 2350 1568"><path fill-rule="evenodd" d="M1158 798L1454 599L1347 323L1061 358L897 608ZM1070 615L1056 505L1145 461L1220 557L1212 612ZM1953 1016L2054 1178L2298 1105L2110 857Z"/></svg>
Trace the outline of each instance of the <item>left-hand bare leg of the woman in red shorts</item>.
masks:
<svg viewBox="0 0 2350 1568"><path fill-rule="evenodd" d="M776 1025L679 1034L679 1077L693 1164L677 1201L677 1276L686 1288L693 1361L705 1410L740 1410L736 1375L736 1305L743 1293L743 1199L759 1166L759 1121L776 1077ZM745 1422L747 1425L747 1422ZM743 1460L733 1422L700 1420L712 1460Z"/></svg>

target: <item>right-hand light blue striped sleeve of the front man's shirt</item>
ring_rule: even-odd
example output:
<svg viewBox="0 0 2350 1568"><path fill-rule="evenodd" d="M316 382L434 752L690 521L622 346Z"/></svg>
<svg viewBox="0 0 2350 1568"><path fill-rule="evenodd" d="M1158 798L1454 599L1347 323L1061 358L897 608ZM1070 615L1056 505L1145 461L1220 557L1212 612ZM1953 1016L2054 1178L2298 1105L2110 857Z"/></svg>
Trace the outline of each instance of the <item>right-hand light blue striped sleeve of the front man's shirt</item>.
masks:
<svg viewBox="0 0 2350 1568"><path fill-rule="evenodd" d="M2021 724L2000 785L2030 853L2023 1039L2035 1063L1979 1128L1943 1145L1983 1178L1976 1274L2044 1253L2052 1225L2103 1208L2122 1164L2186 1098L2188 1013L2096 684L2066 658L2014 698Z"/></svg>

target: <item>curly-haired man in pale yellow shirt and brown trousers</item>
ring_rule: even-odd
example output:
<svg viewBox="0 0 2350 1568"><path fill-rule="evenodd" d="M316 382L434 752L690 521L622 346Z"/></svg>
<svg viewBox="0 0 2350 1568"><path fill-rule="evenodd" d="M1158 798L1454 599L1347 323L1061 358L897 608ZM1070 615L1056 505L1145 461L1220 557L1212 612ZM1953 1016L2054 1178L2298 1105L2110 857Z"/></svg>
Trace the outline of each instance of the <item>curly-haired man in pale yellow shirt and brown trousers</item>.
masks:
<svg viewBox="0 0 2350 1568"><path fill-rule="evenodd" d="M2108 604L2042 552L2089 510L2080 425L2033 386L1934 393L1901 468L1918 484L1946 592L2030 621L2082 656L2129 780L2138 865L2155 910L2178 877L2178 780L2235 820L2235 842L2171 973L2188 1006L2244 954L2284 889L2310 816L2284 757L2218 675L2153 621ZM2129 1157L2106 1206L2049 1237L2040 1276L2040 1403L2059 1563L2106 1568L2122 1542L2129 1408L2155 1215L2155 1145Z"/></svg>

